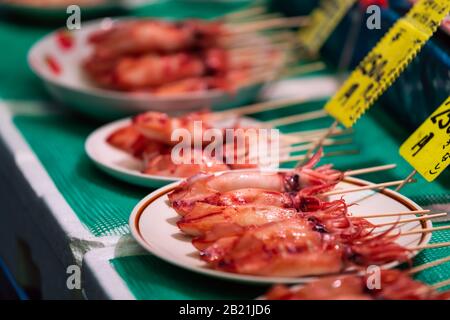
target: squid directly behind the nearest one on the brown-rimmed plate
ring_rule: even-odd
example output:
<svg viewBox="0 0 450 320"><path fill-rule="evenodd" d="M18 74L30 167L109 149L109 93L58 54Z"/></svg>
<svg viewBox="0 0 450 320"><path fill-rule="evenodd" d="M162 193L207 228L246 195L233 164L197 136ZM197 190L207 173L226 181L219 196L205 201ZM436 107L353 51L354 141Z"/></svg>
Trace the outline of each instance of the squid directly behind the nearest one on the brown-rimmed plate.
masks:
<svg viewBox="0 0 450 320"><path fill-rule="evenodd" d="M249 228L291 218L307 220L314 224L315 231L331 233L344 243L362 239L374 229L369 221L349 216L343 200L320 202L321 206L316 206L314 211L254 205L218 207L197 203L178 222L178 227L196 236L192 243L198 250L205 250L222 237L240 236Z"/></svg>

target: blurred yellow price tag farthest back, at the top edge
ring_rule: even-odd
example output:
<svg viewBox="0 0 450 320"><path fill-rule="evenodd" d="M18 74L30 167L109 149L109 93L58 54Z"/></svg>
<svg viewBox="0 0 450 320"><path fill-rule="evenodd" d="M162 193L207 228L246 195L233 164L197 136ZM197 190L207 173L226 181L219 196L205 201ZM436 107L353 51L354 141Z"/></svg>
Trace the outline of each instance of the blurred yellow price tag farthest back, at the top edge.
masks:
<svg viewBox="0 0 450 320"><path fill-rule="evenodd" d="M310 25L299 32L300 43L309 53L322 48L333 30L356 0L322 0L311 15Z"/></svg>

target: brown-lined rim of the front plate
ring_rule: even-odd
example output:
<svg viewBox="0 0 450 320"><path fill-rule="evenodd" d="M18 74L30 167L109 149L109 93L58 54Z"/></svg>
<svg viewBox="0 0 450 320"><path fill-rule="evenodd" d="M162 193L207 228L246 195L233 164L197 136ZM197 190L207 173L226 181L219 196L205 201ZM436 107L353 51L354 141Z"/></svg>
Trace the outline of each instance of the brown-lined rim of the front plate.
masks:
<svg viewBox="0 0 450 320"><path fill-rule="evenodd" d="M289 171L289 169L281 169L279 171ZM219 172L217 174L223 174L223 172ZM217 175L216 174L216 175ZM184 180L183 180L184 181ZM147 196L145 196L143 199L141 199L138 204L133 208L130 218L129 218L129 228L131 231L131 235L139 243L141 247L143 247L147 253L150 253L159 259L162 259L163 261L180 267L185 270L189 270L192 272L195 272L197 274L203 274L207 276L212 276L217 279L226 279L231 280L234 282L241 282L241 283L249 283L249 284L255 284L255 285L268 285L273 283L285 283L285 284L301 284L301 283L307 283L314 279L319 278L320 276L306 276L306 277L299 277L298 279L295 278L289 278L289 277L263 277L263 276L252 276L252 275L240 275L240 274L234 274L234 273L228 273L224 271L218 271L214 269L207 269L207 268L201 268L201 267L194 267L189 265L184 265L181 262L175 261L174 259L170 259L165 257L163 254L160 254L157 249L153 249L152 245L148 243L143 236L141 235L140 228L139 228L139 221L142 217L142 214L146 210L148 206L150 206L154 201L159 199L160 197L166 195L170 191L172 191L175 187L177 187L179 184L181 184L183 181L177 181L174 183L171 183L169 185L163 186ZM370 181L354 178L354 177L346 177L344 179L345 182L349 182L356 185L370 185L373 184ZM380 193L383 193L385 196L388 196L398 202L400 202L402 205L407 207L409 210L421 210L421 206L419 206L417 203L409 199L408 197L394 191L391 189L383 189L379 191ZM431 220L426 221L419 221L422 228L430 228L432 227ZM432 234L431 233L423 233L422 237L420 239L419 244L428 244L431 240ZM411 258L414 258L420 250L416 250L411 253ZM392 269L400 265L399 262L391 262L386 265L381 266L382 269ZM276 281L274 281L276 279Z"/></svg>

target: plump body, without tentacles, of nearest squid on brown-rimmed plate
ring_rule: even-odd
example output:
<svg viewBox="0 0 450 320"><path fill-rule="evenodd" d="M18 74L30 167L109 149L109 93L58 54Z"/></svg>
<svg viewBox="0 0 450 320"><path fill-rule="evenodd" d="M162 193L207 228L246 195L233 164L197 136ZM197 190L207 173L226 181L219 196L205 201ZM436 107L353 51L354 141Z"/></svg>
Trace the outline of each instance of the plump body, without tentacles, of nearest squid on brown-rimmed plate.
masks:
<svg viewBox="0 0 450 320"><path fill-rule="evenodd" d="M210 246L202 258L215 269L239 274L297 277L339 272L343 247L327 238L305 220L286 219L234 239L222 238L230 248Z"/></svg>

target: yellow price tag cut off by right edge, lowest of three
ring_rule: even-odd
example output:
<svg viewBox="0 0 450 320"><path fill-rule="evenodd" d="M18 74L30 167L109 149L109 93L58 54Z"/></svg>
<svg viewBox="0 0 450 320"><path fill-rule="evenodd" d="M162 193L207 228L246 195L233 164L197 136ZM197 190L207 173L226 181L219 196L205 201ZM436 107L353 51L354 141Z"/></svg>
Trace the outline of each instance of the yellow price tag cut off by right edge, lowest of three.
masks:
<svg viewBox="0 0 450 320"><path fill-rule="evenodd" d="M427 181L450 164L450 97L400 147L400 155Z"/></svg>

